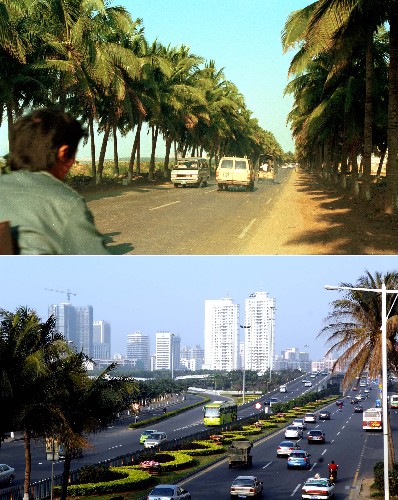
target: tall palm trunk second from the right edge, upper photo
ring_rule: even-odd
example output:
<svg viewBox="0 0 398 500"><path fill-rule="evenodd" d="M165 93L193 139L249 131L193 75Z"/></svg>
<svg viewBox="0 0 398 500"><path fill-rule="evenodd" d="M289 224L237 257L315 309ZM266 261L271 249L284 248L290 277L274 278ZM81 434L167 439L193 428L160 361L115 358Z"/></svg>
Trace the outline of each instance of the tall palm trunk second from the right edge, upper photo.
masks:
<svg viewBox="0 0 398 500"><path fill-rule="evenodd" d="M370 200L370 176L372 169L372 125L373 125L373 31L368 32L366 40L365 63L365 118L363 131L363 178L361 198Z"/></svg>

